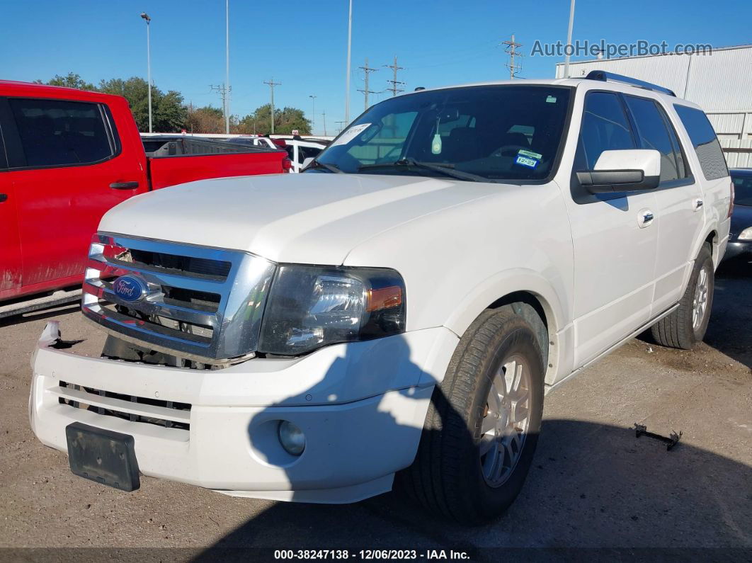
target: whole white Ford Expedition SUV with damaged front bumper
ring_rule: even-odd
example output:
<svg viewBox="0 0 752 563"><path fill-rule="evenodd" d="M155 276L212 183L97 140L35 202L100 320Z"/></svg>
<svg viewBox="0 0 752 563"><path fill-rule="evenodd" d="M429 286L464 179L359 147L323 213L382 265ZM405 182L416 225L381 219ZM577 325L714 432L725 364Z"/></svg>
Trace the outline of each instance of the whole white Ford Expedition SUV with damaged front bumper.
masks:
<svg viewBox="0 0 752 563"><path fill-rule="evenodd" d="M102 219L102 357L33 359L32 428L89 479L464 522L525 480L544 395L630 337L702 340L731 181L705 114L603 73L423 90L304 174L205 180Z"/></svg>

